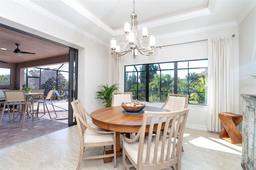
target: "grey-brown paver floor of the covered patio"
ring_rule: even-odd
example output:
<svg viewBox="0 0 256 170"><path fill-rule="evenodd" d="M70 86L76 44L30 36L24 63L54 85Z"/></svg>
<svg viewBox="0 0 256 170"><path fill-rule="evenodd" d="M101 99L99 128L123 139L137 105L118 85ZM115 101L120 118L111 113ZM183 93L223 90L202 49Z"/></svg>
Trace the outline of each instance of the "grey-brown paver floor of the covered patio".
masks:
<svg viewBox="0 0 256 170"><path fill-rule="evenodd" d="M12 146L13 144L17 144L19 142L23 142L25 140L29 140L44 134L48 134L50 132L54 132L56 130L60 130L68 127L68 102L66 100L53 101L54 109L57 114L57 118L53 121L50 121L50 117L48 113L44 115L38 115L39 119L34 119L32 122L32 118L28 119L27 117L24 122L24 127L21 128L5 128L5 127L17 127L21 126L16 125L19 121L19 117L16 118L16 123L9 123L9 117L7 113L7 109L5 109L4 117L1 123L0 129L0 148L4 148L7 146ZM37 103L34 104L34 110L36 110ZM48 109L50 111L50 115L52 118L55 116L52 105L48 105ZM43 113L43 105L41 104L39 107L39 113ZM47 111L46 111L47 112ZM12 112L10 113L12 117Z"/></svg>

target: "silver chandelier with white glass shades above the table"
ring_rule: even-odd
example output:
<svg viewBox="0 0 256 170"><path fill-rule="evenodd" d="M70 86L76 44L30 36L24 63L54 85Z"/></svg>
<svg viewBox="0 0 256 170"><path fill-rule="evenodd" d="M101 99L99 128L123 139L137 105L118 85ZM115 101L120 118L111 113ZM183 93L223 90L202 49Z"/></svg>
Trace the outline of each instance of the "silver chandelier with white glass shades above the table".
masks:
<svg viewBox="0 0 256 170"><path fill-rule="evenodd" d="M142 38L138 38L137 34L137 15L134 13L134 0L133 0L133 12L131 14L131 22L124 22L124 34L126 37L126 45L120 49L120 45L117 44L116 38L110 38L110 49L113 53L116 53L117 56L125 55L129 51L132 51L134 58L137 56L137 51L142 55L152 55L156 45L156 38L154 36L148 37L148 28L146 26L142 27ZM142 39L148 38L148 47L143 47L140 41Z"/></svg>

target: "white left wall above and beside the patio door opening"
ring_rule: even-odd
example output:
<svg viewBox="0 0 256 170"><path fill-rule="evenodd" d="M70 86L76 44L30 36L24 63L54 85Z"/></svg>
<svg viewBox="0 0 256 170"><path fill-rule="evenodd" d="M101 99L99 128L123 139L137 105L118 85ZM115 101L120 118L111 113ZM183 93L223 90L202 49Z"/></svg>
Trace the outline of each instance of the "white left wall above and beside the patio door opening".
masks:
<svg viewBox="0 0 256 170"><path fill-rule="evenodd" d="M108 47L14 1L1 1L0 16L2 24L79 49L78 98L88 112L103 107L95 92L109 83Z"/></svg>

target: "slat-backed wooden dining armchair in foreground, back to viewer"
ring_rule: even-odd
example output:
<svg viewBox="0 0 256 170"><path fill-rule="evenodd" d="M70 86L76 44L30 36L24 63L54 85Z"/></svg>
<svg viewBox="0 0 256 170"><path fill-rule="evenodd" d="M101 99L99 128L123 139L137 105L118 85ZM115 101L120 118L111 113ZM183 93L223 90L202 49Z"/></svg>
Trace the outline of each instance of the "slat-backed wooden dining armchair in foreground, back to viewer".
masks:
<svg viewBox="0 0 256 170"><path fill-rule="evenodd" d="M123 169L134 167L136 170L160 170L175 165L176 170L181 170L181 146L188 111L188 109L173 112L145 111L142 126L134 138L127 138L121 134ZM147 123L150 125L147 126ZM158 125L155 134L156 123ZM163 127L164 129L161 130ZM149 129L148 136L146 129ZM170 140L168 134L174 136L175 140Z"/></svg>

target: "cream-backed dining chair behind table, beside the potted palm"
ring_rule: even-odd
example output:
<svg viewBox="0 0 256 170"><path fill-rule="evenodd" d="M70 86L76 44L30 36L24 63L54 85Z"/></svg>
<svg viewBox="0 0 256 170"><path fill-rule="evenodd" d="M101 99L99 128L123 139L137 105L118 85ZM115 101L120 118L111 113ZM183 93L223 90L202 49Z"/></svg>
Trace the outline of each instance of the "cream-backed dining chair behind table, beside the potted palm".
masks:
<svg viewBox="0 0 256 170"><path fill-rule="evenodd" d="M131 103L132 101L132 92L113 92L111 107L121 106L122 102Z"/></svg>

